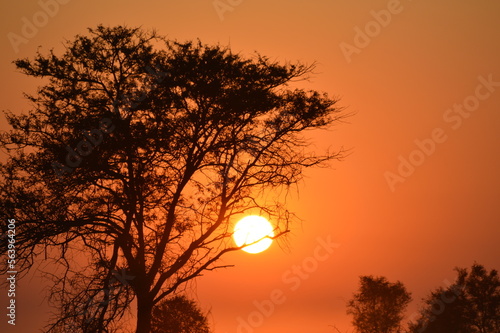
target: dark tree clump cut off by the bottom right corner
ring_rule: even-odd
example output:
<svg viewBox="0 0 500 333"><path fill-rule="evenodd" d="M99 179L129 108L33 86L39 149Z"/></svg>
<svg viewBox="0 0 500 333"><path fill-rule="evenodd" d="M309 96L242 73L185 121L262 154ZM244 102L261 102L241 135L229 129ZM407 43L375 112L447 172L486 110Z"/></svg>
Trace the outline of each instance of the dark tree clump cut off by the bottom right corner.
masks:
<svg viewBox="0 0 500 333"><path fill-rule="evenodd" d="M457 268L458 278L448 288L438 288L425 300L421 317L409 325L411 333L500 332L500 279L474 264Z"/></svg>

